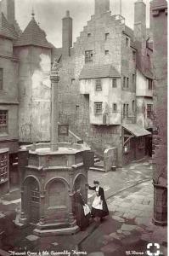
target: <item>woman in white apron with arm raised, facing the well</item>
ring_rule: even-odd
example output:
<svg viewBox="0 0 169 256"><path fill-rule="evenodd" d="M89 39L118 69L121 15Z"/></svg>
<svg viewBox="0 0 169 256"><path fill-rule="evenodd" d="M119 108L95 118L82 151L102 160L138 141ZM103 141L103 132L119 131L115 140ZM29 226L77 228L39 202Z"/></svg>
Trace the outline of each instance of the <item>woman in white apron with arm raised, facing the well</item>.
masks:
<svg viewBox="0 0 169 256"><path fill-rule="evenodd" d="M104 189L99 186L99 181L94 181L93 184L93 187L88 186L88 189L95 191L91 215L97 220L102 220L105 216L109 215L109 209L104 198Z"/></svg>

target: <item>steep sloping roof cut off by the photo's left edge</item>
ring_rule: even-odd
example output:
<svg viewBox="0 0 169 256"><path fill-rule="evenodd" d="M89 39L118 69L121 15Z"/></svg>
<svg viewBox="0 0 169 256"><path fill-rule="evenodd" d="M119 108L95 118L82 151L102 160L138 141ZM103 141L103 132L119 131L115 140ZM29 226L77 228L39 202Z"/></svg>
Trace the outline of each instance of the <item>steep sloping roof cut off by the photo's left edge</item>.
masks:
<svg viewBox="0 0 169 256"><path fill-rule="evenodd" d="M0 36L5 38L14 38L14 31L8 24L8 20L5 18L3 13L0 13Z"/></svg>

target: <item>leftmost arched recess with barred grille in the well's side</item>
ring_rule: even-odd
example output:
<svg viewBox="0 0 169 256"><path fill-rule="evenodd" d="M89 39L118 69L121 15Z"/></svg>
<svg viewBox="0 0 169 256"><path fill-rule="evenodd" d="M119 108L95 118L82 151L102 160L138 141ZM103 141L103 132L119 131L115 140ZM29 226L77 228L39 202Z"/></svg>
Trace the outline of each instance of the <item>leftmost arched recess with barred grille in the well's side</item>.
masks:
<svg viewBox="0 0 169 256"><path fill-rule="evenodd" d="M29 222L39 221L40 191L35 177L26 177L24 182L25 215Z"/></svg>

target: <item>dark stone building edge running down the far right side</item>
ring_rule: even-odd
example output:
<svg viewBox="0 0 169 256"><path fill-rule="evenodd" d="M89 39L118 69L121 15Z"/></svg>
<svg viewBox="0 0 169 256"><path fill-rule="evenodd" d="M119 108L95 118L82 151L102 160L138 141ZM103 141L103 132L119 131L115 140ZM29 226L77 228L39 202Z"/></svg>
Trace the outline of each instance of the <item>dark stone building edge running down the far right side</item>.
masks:
<svg viewBox="0 0 169 256"><path fill-rule="evenodd" d="M153 131L154 222L167 223L167 2L150 3L155 74L155 116Z"/></svg>

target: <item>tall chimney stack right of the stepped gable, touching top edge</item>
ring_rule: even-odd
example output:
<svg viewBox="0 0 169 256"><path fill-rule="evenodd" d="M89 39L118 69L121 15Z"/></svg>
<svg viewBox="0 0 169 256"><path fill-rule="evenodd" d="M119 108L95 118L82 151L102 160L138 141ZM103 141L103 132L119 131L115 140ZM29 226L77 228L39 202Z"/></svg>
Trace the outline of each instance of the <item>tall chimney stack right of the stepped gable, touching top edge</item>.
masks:
<svg viewBox="0 0 169 256"><path fill-rule="evenodd" d="M139 42L146 39L146 5L143 0L134 3L134 38Z"/></svg>

